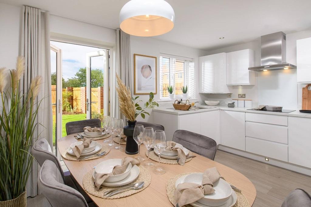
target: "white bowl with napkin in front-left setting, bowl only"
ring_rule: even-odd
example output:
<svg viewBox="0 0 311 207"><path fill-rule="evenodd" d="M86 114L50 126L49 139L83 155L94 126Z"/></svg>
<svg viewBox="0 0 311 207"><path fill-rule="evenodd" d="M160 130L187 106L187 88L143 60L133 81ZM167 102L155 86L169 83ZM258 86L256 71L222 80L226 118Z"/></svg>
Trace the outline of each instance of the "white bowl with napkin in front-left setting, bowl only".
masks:
<svg viewBox="0 0 311 207"><path fill-rule="evenodd" d="M110 159L110 160L105 160L95 167L95 173L112 173L112 170L114 166L120 165L122 163L122 159ZM132 168L132 164L129 163L125 172L119 175L111 175L109 178L105 180L105 182L118 182L120 180L123 180L128 176L130 173L130 170Z"/></svg>

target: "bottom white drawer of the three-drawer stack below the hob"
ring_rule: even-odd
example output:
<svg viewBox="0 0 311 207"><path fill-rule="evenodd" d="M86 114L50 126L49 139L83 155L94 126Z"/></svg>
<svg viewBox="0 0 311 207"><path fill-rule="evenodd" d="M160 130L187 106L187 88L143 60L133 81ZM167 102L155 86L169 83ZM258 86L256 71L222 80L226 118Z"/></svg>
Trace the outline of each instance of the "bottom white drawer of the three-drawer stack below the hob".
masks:
<svg viewBox="0 0 311 207"><path fill-rule="evenodd" d="M288 162L288 146L285 144L246 137L245 148L247 152Z"/></svg>

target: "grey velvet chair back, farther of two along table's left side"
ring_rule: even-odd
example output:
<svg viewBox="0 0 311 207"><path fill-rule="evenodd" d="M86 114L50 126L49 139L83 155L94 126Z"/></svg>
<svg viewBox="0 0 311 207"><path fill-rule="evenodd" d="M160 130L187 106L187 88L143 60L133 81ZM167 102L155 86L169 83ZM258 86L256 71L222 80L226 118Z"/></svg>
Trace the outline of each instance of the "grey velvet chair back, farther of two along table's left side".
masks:
<svg viewBox="0 0 311 207"><path fill-rule="evenodd" d="M61 164L59 163L57 157L53 154L49 142L46 139L38 139L31 148L31 154L35 157L41 167L45 160L51 160L61 172L63 179L65 179Z"/></svg>

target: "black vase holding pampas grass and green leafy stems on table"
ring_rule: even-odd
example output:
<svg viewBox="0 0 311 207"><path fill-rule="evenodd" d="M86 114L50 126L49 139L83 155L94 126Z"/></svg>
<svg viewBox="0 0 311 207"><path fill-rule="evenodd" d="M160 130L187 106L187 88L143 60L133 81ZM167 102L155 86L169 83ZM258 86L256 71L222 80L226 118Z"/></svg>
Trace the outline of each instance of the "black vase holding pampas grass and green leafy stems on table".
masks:
<svg viewBox="0 0 311 207"><path fill-rule="evenodd" d="M138 153L137 143L133 139L137 116L140 115L143 119L145 119L146 115L150 115L149 112L145 110L153 109L156 106L159 106L159 104L154 101L154 95L151 92L149 93L148 101L144 103L144 106L140 106L139 102L142 101L136 101L139 96L133 98L130 89L127 88L124 83L122 83L122 80L118 75L116 76L118 83L118 87L116 89L118 92L119 108L121 113L126 117L128 121L128 125L123 128L123 134L127 136L125 153L133 155Z"/></svg>

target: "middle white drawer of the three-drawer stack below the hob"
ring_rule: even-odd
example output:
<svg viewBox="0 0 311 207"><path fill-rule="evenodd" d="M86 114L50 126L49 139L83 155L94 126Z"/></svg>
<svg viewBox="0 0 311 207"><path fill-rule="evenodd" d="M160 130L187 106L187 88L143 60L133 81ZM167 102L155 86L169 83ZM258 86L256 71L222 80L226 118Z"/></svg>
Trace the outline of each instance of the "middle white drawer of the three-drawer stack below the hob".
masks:
<svg viewBox="0 0 311 207"><path fill-rule="evenodd" d="M288 129L286 126L246 122L245 135L247 137L288 144Z"/></svg>

